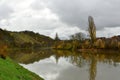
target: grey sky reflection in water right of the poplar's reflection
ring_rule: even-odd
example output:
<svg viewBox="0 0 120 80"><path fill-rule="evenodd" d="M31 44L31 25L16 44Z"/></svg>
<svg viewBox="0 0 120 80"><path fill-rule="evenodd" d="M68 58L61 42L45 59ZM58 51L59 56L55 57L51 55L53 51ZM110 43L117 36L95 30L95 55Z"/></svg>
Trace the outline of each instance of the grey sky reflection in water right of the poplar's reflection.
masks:
<svg viewBox="0 0 120 80"><path fill-rule="evenodd" d="M120 80L120 66L98 63L96 80Z"/></svg>

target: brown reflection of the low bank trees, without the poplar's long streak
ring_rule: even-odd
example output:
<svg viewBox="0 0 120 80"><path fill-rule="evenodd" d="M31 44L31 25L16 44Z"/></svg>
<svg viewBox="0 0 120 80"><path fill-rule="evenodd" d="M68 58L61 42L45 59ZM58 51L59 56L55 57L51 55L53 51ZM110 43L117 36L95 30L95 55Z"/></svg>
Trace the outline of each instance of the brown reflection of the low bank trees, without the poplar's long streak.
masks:
<svg viewBox="0 0 120 80"><path fill-rule="evenodd" d="M106 64L116 64L120 62L119 51L86 51L86 52L72 52L65 50L54 50L56 58L65 57L70 58L69 61L77 66L84 66L86 63L90 63L92 57L97 59L99 62Z"/></svg>

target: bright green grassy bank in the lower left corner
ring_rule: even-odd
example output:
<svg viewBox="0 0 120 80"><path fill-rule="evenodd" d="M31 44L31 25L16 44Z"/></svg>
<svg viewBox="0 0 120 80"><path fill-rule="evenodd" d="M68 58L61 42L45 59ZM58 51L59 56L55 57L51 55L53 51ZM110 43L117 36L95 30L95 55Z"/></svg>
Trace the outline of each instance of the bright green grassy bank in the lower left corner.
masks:
<svg viewBox="0 0 120 80"><path fill-rule="evenodd" d="M43 80L38 75L24 69L22 66L12 61L0 58L0 80Z"/></svg>

